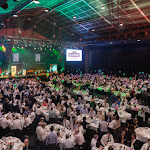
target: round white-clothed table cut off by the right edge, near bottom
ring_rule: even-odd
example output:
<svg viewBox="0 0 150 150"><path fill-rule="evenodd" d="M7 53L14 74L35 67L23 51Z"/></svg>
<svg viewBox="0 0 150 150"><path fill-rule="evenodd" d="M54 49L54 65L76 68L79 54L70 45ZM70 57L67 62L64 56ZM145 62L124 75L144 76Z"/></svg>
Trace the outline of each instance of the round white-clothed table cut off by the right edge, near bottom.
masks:
<svg viewBox="0 0 150 150"><path fill-rule="evenodd" d="M137 140L140 140L141 142L148 142L148 139L150 139L150 128L148 127L139 127L135 129L135 133L137 134Z"/></svg>

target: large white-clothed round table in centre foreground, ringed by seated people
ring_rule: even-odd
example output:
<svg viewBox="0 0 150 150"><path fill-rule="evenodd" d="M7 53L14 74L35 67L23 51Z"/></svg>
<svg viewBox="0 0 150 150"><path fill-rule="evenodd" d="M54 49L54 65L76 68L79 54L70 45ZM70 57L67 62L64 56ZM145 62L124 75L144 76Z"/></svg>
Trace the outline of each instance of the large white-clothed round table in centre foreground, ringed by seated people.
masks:
<svg viewBox="0 0 150 150"><path fill-rule="evenodd" d="M60 146L60 150L63 149L63 142L66 139L66 134L70 135L70 139L72 141L74 141L74 132L72 132L71 130L68 130L67 128L63 127L62 125L59 124L49 124L45 127L45 133L46 135L50 132L50 127L54 126L54 130L55 132L59 132L60 133L60 137L58 137L58 143ZM74 142L75 145L75 142Z"/></svg>

